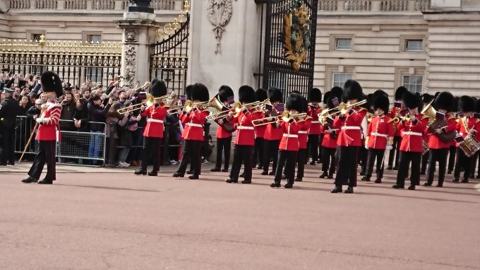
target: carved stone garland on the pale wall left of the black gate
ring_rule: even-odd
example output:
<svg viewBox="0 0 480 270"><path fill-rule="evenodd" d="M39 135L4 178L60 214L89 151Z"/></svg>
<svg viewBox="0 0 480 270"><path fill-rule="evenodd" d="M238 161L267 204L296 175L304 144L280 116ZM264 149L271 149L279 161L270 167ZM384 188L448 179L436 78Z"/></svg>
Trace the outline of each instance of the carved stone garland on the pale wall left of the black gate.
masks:
<svg viewBox="0 0 480 270"><path fill-rule="evenodd" d="M215 54L220 52L220 40L222 40L222 35L225 31L224 27L232 18L232 1L208 0L208 19L213 25L213 33L215 33L215 40L217 41Z"/></svg>

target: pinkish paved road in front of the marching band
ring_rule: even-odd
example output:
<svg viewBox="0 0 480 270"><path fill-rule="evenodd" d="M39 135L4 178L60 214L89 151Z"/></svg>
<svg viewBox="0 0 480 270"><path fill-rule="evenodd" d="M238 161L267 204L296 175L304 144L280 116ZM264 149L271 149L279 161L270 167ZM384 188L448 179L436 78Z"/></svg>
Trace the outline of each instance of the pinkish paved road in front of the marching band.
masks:
<svg viewBox="0 0 480 270"><path fill-rule="evenodd" d="M330 194L318 165L294 189L60 166L42 186L26 168L1 168L0 269L480 269L478 181L393 190L388 171Z"/></svg>

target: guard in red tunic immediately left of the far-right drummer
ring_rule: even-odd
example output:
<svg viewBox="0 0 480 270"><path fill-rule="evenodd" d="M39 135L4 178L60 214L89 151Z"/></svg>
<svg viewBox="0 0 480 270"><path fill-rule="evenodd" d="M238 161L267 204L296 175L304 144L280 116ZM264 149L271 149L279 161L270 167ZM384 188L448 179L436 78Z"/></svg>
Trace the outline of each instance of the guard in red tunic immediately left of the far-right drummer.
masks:
<svg viewBox="0 0 480 270"><path fill-rule="evenodd" d="M445 180L445 170L447 169L447 155L450 150L450 141L445 141L445 134L455 134L457 122L455 116L448 115L452 110L453 95L450 92L440 93L435 100L435 108L437 112L444 115L443 119L436 119L430 127L428 133L430 139L428 140L428 148L430 148L430 158L428 162L428 172L424 186L431 186L433 183L433 170L438 161L438 184L437 187L443 187L443 180ZM441 136L441 137L440 137Z"/></svg>

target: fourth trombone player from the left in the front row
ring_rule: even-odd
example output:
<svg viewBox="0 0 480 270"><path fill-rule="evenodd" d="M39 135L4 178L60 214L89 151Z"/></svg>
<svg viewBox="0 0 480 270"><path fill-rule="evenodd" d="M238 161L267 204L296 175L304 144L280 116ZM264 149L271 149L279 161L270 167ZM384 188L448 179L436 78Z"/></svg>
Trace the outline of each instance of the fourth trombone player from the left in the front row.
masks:
<svg viewBox="0 0 480 270"><path fill-rule="evenodd" d="M275 180L270 184L270 187L280 187L282 180L283 166L285 165L285 172L287 172L287 184L284 188L291 189L294 187L295 177L295 162L299 151L299 124L297 124L294 115L303 110L303 102L299 93L292 93L289 95L287 101L287 110L292 115L289 119L277 120L277 127L283 132L282 140L280 141L280 150L278 151L278 163L275 170ZM287 122L285 122L287 120Z"/></svg>

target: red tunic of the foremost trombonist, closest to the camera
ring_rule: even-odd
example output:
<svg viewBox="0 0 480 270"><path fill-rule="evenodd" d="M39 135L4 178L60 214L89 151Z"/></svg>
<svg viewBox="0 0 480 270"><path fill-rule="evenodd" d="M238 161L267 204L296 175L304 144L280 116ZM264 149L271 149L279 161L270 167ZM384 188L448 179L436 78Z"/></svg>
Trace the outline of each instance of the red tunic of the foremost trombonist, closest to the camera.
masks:
<svg viewBox="0 0 480 270"><path fill-rule="evenodd" d="M337 146L361 146L361 122L366 112L364 108L354 107L352 114L348 112L344 117L335 117L333 127L340 130Z"/></svg>

